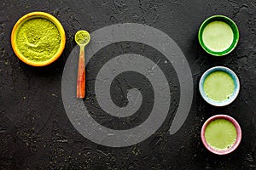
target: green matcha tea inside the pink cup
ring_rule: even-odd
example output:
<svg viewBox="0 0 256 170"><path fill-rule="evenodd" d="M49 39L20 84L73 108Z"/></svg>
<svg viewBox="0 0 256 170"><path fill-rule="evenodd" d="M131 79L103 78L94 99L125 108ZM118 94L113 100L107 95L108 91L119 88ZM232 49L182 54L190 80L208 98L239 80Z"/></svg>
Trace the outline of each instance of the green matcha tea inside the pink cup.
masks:
<svg viewBox="0 0 256 170"><path fill-rule="evenodd" d="M225 119L216 119L207 125L207 144L216 150L226 150L236 142L236 127Z"/></svg>

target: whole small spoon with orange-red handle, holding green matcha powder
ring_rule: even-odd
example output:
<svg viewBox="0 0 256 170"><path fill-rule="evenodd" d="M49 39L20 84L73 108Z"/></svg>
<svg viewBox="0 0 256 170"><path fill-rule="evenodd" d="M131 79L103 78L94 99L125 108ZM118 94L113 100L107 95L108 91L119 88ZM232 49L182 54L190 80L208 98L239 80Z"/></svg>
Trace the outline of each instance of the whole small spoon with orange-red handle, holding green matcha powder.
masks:
<svg viewBox="0 0 256 170"><path fill-rule="evenodd" d="M75 35L75 41L80 46L79 70L77 79L77 98L84 98L85 94L85 65L84 65L84 47L90 42L88 31L80 30Z"/></svg>

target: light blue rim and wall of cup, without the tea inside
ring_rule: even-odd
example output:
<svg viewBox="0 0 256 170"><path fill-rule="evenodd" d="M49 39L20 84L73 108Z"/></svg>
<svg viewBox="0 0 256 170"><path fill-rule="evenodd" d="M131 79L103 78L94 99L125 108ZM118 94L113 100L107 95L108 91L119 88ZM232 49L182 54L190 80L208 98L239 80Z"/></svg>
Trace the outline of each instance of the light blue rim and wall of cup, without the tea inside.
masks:
<svg viewBox="0 0 256 170"><path fill-rule="evenodd" d="M214 71L224 71L230 75L230 77L233 79L235 83L235 89L233 94L230 96L230 99L226 99L224 101L215 101L211 98L207 97L207 94L205 94L204 89L203 89L203 84L207 78L212 72ZM200 82L199 82L199 92L201 94L201 97L210 105L214 106L225 106L225 105L230 105L238 96L240 92L240 81L239 78L236 76L236 73L232 71L230 68L225 67L225 66L214 66L207 71L204 72L204 74L201 76Z"/></svg>

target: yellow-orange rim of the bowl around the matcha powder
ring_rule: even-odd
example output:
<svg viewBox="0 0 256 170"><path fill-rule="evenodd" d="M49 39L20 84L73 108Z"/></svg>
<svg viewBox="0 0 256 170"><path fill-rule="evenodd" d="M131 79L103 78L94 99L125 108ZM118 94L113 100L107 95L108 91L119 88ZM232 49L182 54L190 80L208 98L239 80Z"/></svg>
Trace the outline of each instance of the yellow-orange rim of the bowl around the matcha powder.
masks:
<svg viewBox="0 0 256 170"><path fill-rule="evenodd" d="M58 29L58 31L60 32L60 36L61 36L61 43L60 43L60 48L58 49L58 51L56 52L56 54L43 62L34 62L30 59L26 59L22 54L20 54L19 50L17 49L16 46L16 34L19 31L20 26L22 26L23 23L25 23L27 20L32 20L34 18L44 18L46 20L51 21ZM59 20L57 20L53 15L45 13L45 12L41 12L41 11L36 11L36 12L32 12L32 13L28 13L23 15L16 23L15 26L13 27L12 33L11 33L11 45L12 48L16 54L16 56L23 61L24 63L26 63L27 65L32 65L32 66L44 66L44 65L49 65L51 63L53 63L56 59L58 59L64 48L65 48L65 44L66 44L66 35L65 35L65 31L63 26L61 25L61 22Z"/></svg>

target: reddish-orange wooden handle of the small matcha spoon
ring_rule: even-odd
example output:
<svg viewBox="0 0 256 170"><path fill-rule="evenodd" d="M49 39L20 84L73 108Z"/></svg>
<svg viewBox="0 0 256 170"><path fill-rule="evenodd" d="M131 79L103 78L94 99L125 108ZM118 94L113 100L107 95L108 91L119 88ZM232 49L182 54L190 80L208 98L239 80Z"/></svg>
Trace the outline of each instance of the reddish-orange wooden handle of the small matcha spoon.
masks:
<svg viewBox="0 0 256 170"><path fill-rule="evenodd" d="M80 47L79 71L77 79L77 98L84 98L85 94L85 65L84 65L84 47Z"/></svg>

